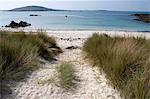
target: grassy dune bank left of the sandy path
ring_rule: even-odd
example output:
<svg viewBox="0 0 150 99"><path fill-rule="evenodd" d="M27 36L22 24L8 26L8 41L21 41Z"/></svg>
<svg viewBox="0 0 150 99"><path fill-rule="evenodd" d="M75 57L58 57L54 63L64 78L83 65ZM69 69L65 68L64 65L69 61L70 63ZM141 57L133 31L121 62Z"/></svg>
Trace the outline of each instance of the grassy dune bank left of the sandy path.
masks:
<svg viewBox="0 0 150 99"><path fill-rule="evenodd" d="M0 80L20 80L36 69L39 58L52 60L61 51L45 33L0 32ZM3 86L1 86L1 91Z"/></svg>

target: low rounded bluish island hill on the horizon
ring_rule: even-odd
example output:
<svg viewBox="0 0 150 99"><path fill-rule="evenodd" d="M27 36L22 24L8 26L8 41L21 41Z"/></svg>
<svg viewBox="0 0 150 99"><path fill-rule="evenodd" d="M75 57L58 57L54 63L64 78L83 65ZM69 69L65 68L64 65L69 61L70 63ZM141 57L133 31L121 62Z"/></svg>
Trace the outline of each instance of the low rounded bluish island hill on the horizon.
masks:
<svg viewBox="0 0 150 99"><path fill-rule="evenodd" d="M42 6L25 6L20 8L14 8L8 11L64 11L64 10L51 9Z"/></svg>

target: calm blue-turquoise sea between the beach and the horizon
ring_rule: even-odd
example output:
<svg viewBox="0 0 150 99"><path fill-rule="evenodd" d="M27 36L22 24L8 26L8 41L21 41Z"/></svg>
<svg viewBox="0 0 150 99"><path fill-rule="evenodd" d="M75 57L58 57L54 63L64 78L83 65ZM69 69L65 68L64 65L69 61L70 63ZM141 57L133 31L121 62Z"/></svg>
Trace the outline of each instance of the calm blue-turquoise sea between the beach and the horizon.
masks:
<svg viewBox="0 0 150 99"><path fill-rule="evenodd" d="M136 12L115 11L44 11L7 12L0 11L0 26L14 20L32 24L36 29L97 29L150 31L150 24L133 20ZM144 12L143 12L144 13ZM38 14L40 16L29 16ZM68 16L67 18L65 16Z"/></svg>

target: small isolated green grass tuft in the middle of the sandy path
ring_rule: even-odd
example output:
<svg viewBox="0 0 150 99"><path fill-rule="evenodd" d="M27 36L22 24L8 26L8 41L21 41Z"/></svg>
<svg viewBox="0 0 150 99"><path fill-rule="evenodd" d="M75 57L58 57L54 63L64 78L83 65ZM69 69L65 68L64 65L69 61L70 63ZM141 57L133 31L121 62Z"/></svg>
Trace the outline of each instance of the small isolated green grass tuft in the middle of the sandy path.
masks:
<svg viewBox="0 0 150 99"><path fill-rule="evenodd" d="M75 85L73 83L74 80L74 69L73 65L70 63L63 62L58 67L58 73L59 73L59 83L60 86L65 90L70 90Z"/></svg>

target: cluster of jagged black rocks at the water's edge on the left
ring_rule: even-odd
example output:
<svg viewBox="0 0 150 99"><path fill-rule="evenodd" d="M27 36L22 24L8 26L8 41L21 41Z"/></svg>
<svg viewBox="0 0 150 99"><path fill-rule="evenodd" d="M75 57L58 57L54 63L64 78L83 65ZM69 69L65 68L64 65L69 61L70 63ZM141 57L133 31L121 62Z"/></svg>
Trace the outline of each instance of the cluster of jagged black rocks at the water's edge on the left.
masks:
<svg viewBox="0 0 150 99"><path fill-rule="evenodd" d="M5 27L11 27L11 28L19 28L19 27L27 27L31 26L31 24L25 22L25 21L20 21L19 23L15 21L11 21L9 25L6 25Z"/></svg>

